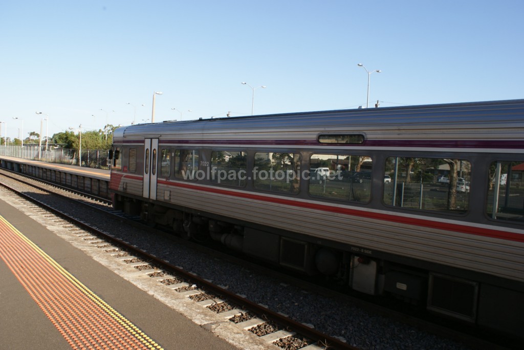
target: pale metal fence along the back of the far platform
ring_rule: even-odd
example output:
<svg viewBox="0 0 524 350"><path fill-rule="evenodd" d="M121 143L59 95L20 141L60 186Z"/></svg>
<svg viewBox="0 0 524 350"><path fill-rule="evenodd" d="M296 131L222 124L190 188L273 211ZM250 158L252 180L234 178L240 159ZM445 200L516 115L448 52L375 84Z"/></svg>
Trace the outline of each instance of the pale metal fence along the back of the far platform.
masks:
<svg viewBox="0 0 524 350"><path fill-rule="evenodd" d="M108 150L69 150L52 148L46 151L46 146L0 146L0 155L18 157L48 163L79 165L91 168L108 169Z"/></svg>

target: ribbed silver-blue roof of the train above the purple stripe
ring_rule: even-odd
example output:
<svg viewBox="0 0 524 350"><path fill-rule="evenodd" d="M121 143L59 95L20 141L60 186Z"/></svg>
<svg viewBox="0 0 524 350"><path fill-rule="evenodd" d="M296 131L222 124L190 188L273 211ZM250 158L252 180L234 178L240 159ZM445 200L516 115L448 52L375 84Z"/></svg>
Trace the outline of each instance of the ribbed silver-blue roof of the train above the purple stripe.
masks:
<svg viewBox="0 0 524 350"><path fill-rule="evenodd" d="M115 143L159 137L186 140L311 140L320 133L366 139L474 138L524 142L524 99L237 116L136 124L115 130Z"/></svg>

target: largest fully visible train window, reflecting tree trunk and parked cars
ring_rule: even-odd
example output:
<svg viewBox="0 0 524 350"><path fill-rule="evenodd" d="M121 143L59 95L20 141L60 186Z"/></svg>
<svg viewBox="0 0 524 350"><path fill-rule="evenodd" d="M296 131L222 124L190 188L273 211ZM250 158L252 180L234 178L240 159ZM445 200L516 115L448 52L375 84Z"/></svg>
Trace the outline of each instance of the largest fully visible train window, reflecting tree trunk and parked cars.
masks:
<svg viewBox="0 0 524 350"><path fill-rule="evenodd" d="M452 158L389 157L384 204L465 213L469 208L471 164Z"/></svg>

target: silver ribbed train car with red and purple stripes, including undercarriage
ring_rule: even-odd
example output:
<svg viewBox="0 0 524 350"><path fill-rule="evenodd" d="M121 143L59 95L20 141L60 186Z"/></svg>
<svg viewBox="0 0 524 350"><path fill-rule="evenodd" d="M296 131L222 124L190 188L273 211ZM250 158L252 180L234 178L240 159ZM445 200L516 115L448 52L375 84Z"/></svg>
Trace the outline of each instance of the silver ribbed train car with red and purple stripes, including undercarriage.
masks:
<svg viewBox="0 0 524 350"><path fill-rule="evenodd" d="M114 206L522 336L524 100L125 126Z"/></svg>

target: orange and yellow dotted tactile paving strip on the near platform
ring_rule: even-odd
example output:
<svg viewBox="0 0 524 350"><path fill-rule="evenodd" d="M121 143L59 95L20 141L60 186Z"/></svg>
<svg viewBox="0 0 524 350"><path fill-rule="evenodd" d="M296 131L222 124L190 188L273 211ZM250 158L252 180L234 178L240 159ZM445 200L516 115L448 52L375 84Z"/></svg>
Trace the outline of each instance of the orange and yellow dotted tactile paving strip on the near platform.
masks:
<svg viewBox="0 0 524 350"><path fill-rule="evenodd" d="M73 349L162 349L2 216L0 258Z"/></svg>

